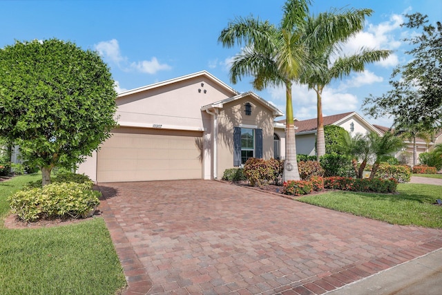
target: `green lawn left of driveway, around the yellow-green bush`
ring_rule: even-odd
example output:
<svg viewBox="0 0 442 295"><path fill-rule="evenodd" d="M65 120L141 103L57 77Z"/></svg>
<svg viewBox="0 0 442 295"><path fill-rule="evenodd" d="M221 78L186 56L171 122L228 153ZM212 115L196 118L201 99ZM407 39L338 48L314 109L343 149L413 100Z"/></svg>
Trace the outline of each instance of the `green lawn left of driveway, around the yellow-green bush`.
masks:
<svg viewBox="0 0 442 295"><path fill-rule="evenodd" d="M39 177L0 182L0 216L9 211L6 198ZM1 294L115 294L126 285L102 218L40 229L0 227L0 237Z"/></svg>

